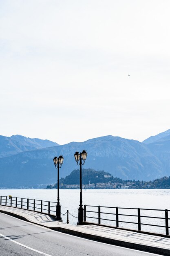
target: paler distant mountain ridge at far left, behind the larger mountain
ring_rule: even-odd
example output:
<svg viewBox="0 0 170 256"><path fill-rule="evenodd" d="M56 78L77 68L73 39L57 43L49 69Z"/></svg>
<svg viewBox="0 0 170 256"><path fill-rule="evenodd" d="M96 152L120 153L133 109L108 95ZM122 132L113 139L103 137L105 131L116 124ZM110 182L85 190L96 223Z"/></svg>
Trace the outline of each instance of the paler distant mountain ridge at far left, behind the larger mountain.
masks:
<svg viewBox="0 0 170 256"><path fill-rule="evenodd" d="M22 135L12 135L11 137L0 135L0 157L57 145L57 143L47 139L31 139Z"/></svg>

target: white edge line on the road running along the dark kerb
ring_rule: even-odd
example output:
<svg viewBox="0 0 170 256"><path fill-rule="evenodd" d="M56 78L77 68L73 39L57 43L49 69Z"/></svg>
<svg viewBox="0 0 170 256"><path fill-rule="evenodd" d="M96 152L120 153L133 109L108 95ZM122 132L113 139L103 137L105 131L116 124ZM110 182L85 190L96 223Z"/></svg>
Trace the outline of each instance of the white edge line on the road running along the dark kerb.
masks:
<svg viewBox="0 0 170 256"><path fill-rule="evenodd" d="M0 212L0 213L1 213L1 212ZM7 215L6 213L1 213L1 214ZM8 215L8 216L10 216L10 215ZM18 219L18 218L14 217L14 216L10 216L10 217L11 217L11 218ZM23 221L23 222L29 222L29 221L21 220L21 219L18 219L18 220ZM41 227L42 229L48 229L48 230L51 230L52 232L57 232L57 233L59 232L59 231L56 231L56 230L52 230L52 229L50 229L50 228L48 228L48 227L43 227L43 226L41 226L41 225L34 224L33 222L30 222L30 223L31 223L31 225L34 225L34 226L37 226L37 227ZM60 232L60 234L63 234L63 235L65 235L65 236L73 236L73 235L70 235L70 234L62 233L62 232ZM98 242L98 241L95 241L95 240L90 240L90 239L83 238L83 237L79 237L79 236L74 236L74 237L77 237L77 238L79 238L79 239L84 239L84 240L92 241L92 242L94 242L94 243L101 243L101 244L104 244L104 245L110 245L110 244ZM150 254L150 255L154 255L154 256L161 256L161 254L153 254L152 252L144 252L144 251L139 251L139 250L130 249L130 248L127 248L127 247L122 247L122 246L117 246L117 245L110 245L110 246L112 246L112 247L118 247L118 248L124 248L124 249L130 250L130 251L135 251L135 252L142 252L142 253ZM48 255L48 254L45 254L45 255ZM51 255L50 255L50 256L51 256Z"/></svg>

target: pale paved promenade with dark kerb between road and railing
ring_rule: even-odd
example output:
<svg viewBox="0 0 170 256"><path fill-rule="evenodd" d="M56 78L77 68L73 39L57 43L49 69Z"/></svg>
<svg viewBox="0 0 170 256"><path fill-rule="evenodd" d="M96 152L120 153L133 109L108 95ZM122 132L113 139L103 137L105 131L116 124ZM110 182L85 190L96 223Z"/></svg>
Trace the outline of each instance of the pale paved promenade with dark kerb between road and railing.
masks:
<svg viewBox="0 0 170 256"><path fill-rule="evenodd" d="M0 212L66 234L88 238L102 243L170 256L170 238L167 237L97 225L74 226L56 221L53 216L44 213L2 205L0 205Z"/></svg>

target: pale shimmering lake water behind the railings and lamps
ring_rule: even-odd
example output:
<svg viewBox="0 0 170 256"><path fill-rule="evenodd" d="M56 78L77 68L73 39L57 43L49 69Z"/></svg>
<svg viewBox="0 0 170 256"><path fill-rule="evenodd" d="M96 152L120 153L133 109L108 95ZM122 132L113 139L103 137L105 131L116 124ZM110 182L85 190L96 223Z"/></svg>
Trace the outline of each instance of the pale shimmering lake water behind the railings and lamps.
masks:
<svg viewBox="0 0 170 256"><path fill-rule="evenodd" d="M8 189L0 190L0 195L13 197L30 198L45 201L57 201L57 190L45 190L45 189ZM82 193L83 204L86 205L100 205L107 207L128 207L128 208L145 208L145 209L168 209L170 210L170 189L93 189L83 190ZM79 190L60 189L60 204L62 205L62 213L66 213L67 210L73 215L78 216L79 207ZM87 210L89 210L88 208ZM94 209L90 209L94 211ZM97 208L95 209L95 211ZM115 209L101 209L102 212L115 213ZM137 210L123 210L119 209L119 213L137 215ZM144 213L141 210L141 215L146 216L159 216L165 217L165 211L147 211ZM170 215L170 213L169 213ZM76 225L77 218L69 215L69 223ZM95 213L87 213L87 216L97 217ZM110 215L101 215L101 218L110 219ZM112 217L113 218L113 217ZM114 217L115 218L115 217ZM135 222L137 222L137 217ZM63 222L66 222L66 215L62 216ZM132 217L120 216L119 220L131 221ZM97 222L97 220L87 218L87 221ZM157 223L155 222L157 221ZM141 218L142 223L156 223L157 225L165 226L165 220ZM115 222L109 222L101 220L101 223L108 225L115 225ZM120 223L119 227L129 227L137 229L137 225L131 225L128 223ZM141 226L142 230L149 231L151 227ZM152 228L152 231L165 234L165 228L156 227Z"/></svg>

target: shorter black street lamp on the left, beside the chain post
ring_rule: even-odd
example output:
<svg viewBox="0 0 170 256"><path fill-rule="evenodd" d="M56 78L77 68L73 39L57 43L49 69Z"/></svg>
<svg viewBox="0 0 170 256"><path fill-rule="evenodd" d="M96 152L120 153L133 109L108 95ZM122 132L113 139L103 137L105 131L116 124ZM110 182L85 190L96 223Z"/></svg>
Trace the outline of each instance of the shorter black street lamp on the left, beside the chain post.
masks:
<svg viewBox="0 0 170 256"><path fill-rule="evenodd" d="M62 167L62 163L63 163L63 157L62 155L60 155L60 157L54 157L53 161L55 164L55 168L58 170L58 177L57 177L57 205L56 205L56 220L60 220L62 221L61 218L61 205L60 205L60 198L59 198L59 168Z"/></svg>

